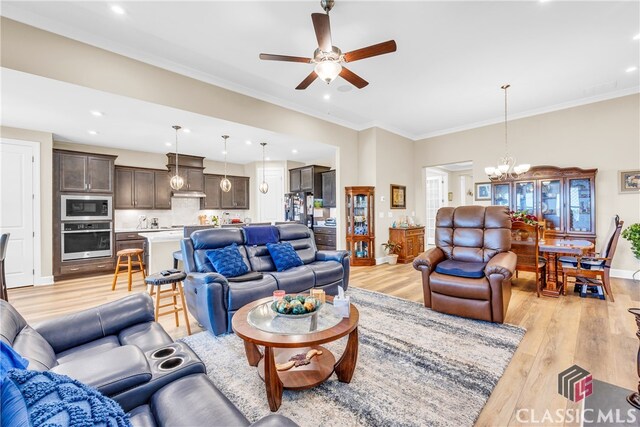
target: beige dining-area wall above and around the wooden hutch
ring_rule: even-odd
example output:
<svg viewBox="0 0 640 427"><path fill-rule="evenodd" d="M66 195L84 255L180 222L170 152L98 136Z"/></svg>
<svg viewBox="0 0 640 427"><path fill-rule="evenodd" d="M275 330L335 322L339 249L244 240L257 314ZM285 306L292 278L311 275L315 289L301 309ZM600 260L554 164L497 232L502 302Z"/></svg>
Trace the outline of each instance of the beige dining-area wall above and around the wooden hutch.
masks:
<svg viewBox="0 0 640 427"><path fill-rule="evenodd" d="M620 194L618 171L640 169L640 95L630 95L552 113L514 120L509 124L509 146L520 162L532 165L598 168L596 225L599 242L611 217L626 224L640 222L640 194ZM416 205L424 209L421 170L473 160L475 182L488 181L484 167L504 153L503 125L496 124L416 141L414 176ZM613 268L635 271L629 242L620 239Z"/></svg>

